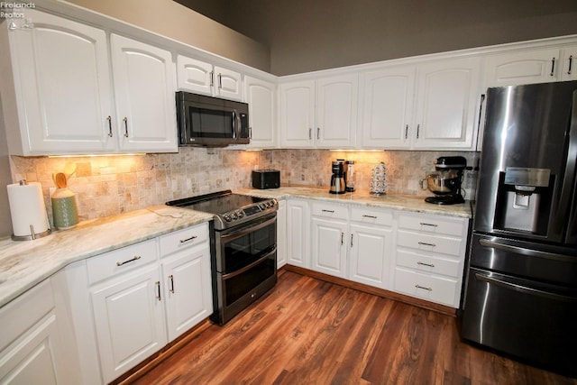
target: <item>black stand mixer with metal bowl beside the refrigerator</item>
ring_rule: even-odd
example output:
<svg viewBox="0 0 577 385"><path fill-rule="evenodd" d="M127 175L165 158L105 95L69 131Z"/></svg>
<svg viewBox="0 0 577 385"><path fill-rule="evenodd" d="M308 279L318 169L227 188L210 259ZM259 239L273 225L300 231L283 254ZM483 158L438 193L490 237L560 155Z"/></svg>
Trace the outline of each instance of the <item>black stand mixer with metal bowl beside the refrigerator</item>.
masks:
<svg viewBox="0 0 577 385"><path fill-rule="evenodd" d="M435 197L426 197L425 201L436 205L456 205L465 200L461 195L463 170L467 160L462 156L442 156L435 161L435 172L426 176L427 188Z"/></svg>

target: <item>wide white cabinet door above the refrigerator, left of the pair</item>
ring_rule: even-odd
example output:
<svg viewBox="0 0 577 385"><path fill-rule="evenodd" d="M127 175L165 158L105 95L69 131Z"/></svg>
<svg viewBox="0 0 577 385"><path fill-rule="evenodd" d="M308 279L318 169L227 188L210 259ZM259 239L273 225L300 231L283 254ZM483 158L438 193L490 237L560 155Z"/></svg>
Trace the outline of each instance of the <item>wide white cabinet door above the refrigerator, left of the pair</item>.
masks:
<svg viewBox="0 0 577 385"><path fill-rule="evenodd" d="M559 56L557 48L490 55L485 60L485 88L555 81L563 67Z"/></svg>

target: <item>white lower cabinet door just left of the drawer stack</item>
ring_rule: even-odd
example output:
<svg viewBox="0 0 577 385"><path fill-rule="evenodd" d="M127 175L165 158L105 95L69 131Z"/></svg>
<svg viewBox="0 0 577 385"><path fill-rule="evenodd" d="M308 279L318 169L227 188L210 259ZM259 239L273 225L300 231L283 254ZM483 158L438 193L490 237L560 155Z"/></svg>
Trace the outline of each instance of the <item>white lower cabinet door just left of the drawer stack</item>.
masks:
<svg viewBox="0 0 577 385"><path fill-rule="evenodd" d="M350 280L389 289L392 230L382 226L351 225Z"/></svg>

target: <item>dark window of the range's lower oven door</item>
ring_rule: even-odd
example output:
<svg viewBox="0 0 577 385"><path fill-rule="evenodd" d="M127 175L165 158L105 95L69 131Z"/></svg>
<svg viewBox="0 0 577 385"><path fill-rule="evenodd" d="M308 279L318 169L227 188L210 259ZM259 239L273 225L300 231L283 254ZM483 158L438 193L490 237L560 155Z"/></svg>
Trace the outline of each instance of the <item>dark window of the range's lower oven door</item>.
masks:
<svg viewBox="0 0 577 385"><path fill-rule="evenodd" d="M265 280L276 274L277 253L273 252L270 257L261 263L244 271L242 274L224 280L224 303L230 306L234 301L251 292Z"/></svg>

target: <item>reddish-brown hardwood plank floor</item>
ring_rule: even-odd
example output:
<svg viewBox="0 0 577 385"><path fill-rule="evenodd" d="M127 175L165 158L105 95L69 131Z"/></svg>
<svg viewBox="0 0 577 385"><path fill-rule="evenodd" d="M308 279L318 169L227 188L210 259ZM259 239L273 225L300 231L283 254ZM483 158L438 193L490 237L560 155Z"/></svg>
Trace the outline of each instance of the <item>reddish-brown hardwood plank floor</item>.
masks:
<svg viewBox="0 0 577 385"><path fill-rule="evenodd" d="M270 295L205 325L134 384L577 384L463 344L456 319L279 271Z"/></svg>

